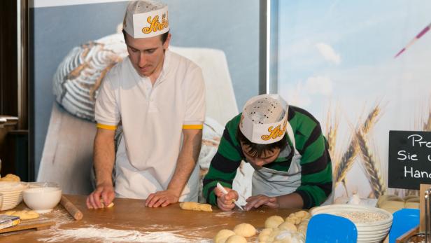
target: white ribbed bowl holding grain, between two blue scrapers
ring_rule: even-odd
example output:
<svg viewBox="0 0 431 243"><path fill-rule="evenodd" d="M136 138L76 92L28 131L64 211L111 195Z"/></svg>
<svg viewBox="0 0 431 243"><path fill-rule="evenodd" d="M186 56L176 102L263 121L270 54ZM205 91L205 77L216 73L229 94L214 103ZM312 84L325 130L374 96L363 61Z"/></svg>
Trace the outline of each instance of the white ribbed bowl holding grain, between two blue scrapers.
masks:
<svg viewBox="0 0 431 243"><path fill-rule="evenodd" d="M381 216L381 218L377 220L353 221L358 230L358 243L381 242L386 235L388 235L390 226L392 225L393 216L383 209L348 204L334 204L311 209L311 215L334 214L342 216L343 214L346 215L351 213Z"/></svg>

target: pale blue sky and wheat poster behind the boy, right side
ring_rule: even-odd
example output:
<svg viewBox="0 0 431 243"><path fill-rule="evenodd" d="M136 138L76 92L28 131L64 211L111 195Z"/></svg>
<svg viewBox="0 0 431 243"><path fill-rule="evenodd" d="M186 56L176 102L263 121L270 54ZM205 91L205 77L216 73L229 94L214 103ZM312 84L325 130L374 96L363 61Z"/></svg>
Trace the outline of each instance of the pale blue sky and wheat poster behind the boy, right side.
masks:
<svg viewBox="0 0 431 243"><path fill-rule="evenodd" d="M278 92L320 121L335 197L388 190L389 130L431 130L428 1L279 1Z"/></svg>

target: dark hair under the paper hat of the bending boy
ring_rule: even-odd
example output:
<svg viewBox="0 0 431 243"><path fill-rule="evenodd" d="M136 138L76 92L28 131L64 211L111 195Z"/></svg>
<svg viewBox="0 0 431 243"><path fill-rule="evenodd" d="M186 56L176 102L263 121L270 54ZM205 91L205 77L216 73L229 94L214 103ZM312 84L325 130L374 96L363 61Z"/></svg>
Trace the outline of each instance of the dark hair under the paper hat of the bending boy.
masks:
<svg viewBox="0 0 431 243"><path fill-rule="evenodd" d="M286 136L286 134L284 134L283 138L280 141L276 141L272 144L255 144L248 140L238 127L238 130L236 130L236 137L239 139L240 142L250 148L250 150L247 152L250 153L250 155L252 155L253 157L261 157L262 155L264 155L265 151L274 151L274 149L276 148L280 148L280 151L283 151L283 149L288 146L288 137Z"/></svg>

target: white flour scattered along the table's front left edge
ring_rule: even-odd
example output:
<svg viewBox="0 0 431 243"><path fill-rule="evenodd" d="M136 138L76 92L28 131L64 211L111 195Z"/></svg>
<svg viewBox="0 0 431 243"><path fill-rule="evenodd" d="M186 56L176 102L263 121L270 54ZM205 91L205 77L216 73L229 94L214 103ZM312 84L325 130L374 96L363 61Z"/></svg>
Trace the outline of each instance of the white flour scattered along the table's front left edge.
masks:
<svg viewBox="0 0 431 243"><path fill-rule="evenodd" d="M50 237L39 239L43 242L65 242L71 239L92 239L100 242L209 242L208 239L190 239L172 232L140 232L137 230L115 230L111 228L58 229Z"/></svg>

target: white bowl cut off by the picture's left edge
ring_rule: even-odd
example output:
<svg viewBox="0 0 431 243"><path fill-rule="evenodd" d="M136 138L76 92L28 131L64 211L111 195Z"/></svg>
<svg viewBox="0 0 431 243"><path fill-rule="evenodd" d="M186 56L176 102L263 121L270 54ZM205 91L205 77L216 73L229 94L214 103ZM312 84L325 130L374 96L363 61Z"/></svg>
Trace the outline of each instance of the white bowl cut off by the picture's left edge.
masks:
<svg viewBox="0 0 431 243"><path fill-rule="evenodd" d="M22 202L22 191L29 187L29 183L21 181L0 181L0 193L3 194L3 204L0 211L13 209Z"/></svg>

